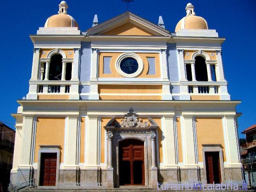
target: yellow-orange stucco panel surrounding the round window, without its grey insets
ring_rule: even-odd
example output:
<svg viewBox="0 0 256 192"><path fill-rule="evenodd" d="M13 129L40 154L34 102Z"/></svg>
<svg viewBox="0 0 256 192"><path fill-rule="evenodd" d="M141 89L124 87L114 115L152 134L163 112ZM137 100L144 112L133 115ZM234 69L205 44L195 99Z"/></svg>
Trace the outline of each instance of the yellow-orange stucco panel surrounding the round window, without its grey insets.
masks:
<svg viewBox="0 0 256 192"><path fill-rule="evenodd" d="M121 76L116 68L115 68L115 63L117 58L123 53L114 53L114 52L107 52L107 53L99 53L99 77L100 78L124 78ZM136 53L141 57L144 63L144 68L142 73L136 77L136 78L160 78L161 77L161 72L160 72L160 56L159 53ZM110 60L110 71L111 74L104 74L104 57L111 57ZM156 74L155 75L149 75L148 70L149 70L149 62L147 60L147 57L155 58L156 61Z"/></svg>

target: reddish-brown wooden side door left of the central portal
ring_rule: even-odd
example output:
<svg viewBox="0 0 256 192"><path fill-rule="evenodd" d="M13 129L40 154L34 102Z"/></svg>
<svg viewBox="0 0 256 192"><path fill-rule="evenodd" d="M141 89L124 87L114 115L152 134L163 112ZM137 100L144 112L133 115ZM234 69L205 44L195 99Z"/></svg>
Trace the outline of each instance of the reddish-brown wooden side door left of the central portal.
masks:
<svg viewBox="0 0 256 192"><path fill-rule="evenodd" d="M40 186L55 186L57 153L41 153Z"/></svg>

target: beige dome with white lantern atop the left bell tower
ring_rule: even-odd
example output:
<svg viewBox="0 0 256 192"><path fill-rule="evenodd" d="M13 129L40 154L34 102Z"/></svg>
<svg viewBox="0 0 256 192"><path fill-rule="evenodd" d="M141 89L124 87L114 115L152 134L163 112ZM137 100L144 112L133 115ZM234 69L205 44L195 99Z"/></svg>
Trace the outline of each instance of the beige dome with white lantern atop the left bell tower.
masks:
<svg viewBox="0 0 256 192"><path fill-rule="evenodd" d="M78 27L76 20L67 15L68 5L65 1L62 1L59 5L59 11L57 15L50 16L45 22L44 27Z"/></svg>

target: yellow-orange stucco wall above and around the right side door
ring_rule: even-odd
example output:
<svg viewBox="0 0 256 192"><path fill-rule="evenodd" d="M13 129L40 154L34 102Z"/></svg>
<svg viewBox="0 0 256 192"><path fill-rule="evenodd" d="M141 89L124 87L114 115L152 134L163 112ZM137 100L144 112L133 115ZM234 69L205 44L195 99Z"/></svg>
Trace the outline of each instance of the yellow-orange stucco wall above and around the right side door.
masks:
<svg viewBox="0 0 256 192"><path fill-rule="evenodd" d="M196 137L198 145L198 161L203 162L203 144L220 144L223 160L227 161L225 153L224 132L221 117L196 117Z"/></svg>

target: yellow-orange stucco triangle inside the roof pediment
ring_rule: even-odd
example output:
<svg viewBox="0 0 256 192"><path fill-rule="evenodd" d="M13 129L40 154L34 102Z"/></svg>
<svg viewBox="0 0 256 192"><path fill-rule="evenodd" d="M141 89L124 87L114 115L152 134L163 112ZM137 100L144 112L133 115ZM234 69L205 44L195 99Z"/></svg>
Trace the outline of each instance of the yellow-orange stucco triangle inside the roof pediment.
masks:
<svg viewBox="0 0 256 192"><path fill-rule="evenodd" d="M119 27L116 27L110 31L103 33L102 35L147 35L149 36L154 34L132 23L125 23Z"/></svg>

